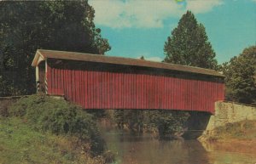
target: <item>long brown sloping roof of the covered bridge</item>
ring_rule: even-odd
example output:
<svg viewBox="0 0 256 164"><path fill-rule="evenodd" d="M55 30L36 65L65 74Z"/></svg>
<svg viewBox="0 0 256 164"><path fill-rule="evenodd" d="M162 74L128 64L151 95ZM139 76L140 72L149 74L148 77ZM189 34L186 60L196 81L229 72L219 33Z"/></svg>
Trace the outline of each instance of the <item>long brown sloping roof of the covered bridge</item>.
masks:
<svg viewBox="0 0 256 164"><path fill-rule="evenodd" d="M213 70L194 67L194 66L174 65L169 63L154 62L154 61L148 61L143 59L131 59L131 58L123 58L123 57L98 55L98 54L84 54L84 53L75 53L75 52L67 52L67 51L45 50L45 49L38 49L32 61L32 66L37 66L42 60L45 60L45 59L67 59L67 60L108 63L108 64L116 64L116 65L135 65L135 66L159 68L159 69L172 70L172 71L191 72L191 73L201 74L201 75L224 77L224 75L218 73L218 71L213 71Z"/></svg>

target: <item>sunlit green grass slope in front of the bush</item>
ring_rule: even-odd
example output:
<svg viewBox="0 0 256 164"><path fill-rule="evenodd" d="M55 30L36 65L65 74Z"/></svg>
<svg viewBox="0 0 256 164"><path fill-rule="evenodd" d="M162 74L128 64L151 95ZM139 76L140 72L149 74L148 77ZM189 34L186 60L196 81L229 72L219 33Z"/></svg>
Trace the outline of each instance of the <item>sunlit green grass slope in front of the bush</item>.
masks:
<svg viewBox="0 0 256 164"><path fill-rule="evenodd" d="M0 120L0 163L79 163L84 158L65 137L39 133L20 118ZM86 163L86 162L84 162ZM91 162L92 163L92 162Z"/></svg>

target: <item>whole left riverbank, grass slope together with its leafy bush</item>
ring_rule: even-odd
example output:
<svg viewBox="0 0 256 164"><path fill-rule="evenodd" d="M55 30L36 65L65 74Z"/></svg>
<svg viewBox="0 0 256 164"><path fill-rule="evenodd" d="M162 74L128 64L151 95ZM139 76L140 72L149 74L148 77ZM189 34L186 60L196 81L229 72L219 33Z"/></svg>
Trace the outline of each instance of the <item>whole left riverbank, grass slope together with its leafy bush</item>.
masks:
<svg viewBox="0 0 256 164"><path fill-rule="evenodd" d="M21 98L1 116L0 163L110 163L94 116L45 95Z"/></svg>

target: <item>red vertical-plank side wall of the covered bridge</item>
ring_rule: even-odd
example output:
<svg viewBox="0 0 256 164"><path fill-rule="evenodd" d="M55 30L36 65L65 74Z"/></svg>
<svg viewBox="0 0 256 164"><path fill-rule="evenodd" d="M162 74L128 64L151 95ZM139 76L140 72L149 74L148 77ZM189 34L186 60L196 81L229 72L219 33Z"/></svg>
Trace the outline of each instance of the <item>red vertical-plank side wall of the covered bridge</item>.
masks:
<svg viewBox="0 0 256 164"><path fill-rule="evenodd" d="M214 112L224 84L170 76L47 68L48 93L84 109L163 109Z"/></svg>

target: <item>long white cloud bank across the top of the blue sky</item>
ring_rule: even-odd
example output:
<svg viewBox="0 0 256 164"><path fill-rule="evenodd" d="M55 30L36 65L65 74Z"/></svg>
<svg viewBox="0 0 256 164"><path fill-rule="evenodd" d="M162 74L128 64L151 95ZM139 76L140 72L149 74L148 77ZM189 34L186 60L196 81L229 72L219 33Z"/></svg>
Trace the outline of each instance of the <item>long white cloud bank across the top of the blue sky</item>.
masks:
<svg viewBox="0 0 256 164"><path fill-rule="evenodd" d="M222 0L90 0L96 10L95 22L112 28L160 28L164 20L180 17L187 9L205 13L221 5Z"/></svg>

